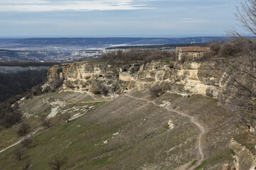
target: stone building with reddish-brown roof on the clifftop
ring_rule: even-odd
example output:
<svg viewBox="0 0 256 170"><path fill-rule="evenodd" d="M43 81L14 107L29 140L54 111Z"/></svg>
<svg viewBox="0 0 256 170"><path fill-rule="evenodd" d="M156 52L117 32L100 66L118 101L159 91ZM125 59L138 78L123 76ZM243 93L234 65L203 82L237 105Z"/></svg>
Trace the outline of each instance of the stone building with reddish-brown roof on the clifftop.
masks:
<svg viewBox="0 0 256 170"><path fill-rule="evenodd" d="M182 59L182 56L191 57L192 59L202 57L203 53L210 52L210 47L176 47L176 55L178 60Z"/></svg>

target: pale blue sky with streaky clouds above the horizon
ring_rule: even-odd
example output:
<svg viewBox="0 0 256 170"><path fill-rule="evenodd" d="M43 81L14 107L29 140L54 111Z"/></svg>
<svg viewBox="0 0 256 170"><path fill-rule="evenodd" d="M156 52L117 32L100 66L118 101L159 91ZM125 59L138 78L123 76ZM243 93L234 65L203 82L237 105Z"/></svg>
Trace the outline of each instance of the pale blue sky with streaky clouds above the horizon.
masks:
<svg viewBox="0 0 256 170"><path fill-rule="evenodd" d="M238 28L240 0L0 0L0 37L184 37ZM240 29L240 28L238 28Z"/></svg>

